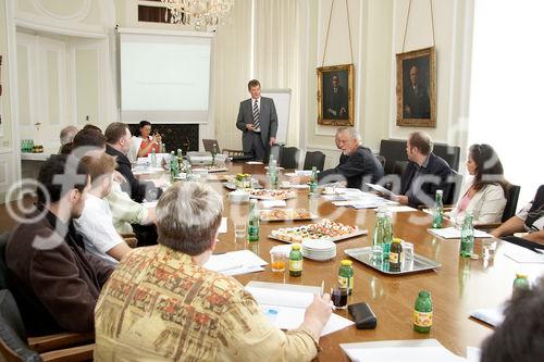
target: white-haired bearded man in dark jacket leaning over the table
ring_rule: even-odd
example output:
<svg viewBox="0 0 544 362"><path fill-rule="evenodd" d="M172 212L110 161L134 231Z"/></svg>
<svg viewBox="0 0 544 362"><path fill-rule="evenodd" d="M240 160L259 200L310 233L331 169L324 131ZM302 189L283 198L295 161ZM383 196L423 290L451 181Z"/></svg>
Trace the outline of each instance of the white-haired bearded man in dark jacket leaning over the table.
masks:
<svg viewBox="0 0 544 362"><path fill-rule="evenodd" d="M336 167L318 174L322 183L346 180L347 187L361 189L363 183L376 183L383 177L383 166L372 151L361 146L360 136L353 127L339 127L335 137L342 150Z"/></svg>

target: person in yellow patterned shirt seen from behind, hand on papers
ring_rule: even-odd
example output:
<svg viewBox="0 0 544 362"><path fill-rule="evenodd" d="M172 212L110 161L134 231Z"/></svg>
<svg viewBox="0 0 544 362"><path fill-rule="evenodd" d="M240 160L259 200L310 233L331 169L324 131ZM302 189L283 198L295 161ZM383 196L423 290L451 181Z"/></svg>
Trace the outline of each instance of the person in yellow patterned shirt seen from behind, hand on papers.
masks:
<svg viewBox="0 0 544 362"><path fill-rule="evenodd" d="M202 265L214 249L221 196L175 184L157 205L159 245L119 263L96 308L96 361L309 361L331 315L316 296L304 323L282 332L236 279Z"/></svg>

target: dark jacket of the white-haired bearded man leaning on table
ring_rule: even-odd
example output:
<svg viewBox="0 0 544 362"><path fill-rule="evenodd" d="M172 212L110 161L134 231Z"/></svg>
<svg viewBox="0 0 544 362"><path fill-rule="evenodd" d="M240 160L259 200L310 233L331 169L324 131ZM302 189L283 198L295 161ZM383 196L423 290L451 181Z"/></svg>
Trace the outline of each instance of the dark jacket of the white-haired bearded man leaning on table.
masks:
<svg viewBox="0 0 544 362"><path fill-rule="evenodd" d="M339 164L336 167L325 170L318 175L319 180L325 177L333 180L335 175L342 175L347 180L347 187L360 189L363 182L376 183L382 178L383 166L370 149L359 146L354 154L341 155ZM325 179L324 182L330 180Z"/></svg>

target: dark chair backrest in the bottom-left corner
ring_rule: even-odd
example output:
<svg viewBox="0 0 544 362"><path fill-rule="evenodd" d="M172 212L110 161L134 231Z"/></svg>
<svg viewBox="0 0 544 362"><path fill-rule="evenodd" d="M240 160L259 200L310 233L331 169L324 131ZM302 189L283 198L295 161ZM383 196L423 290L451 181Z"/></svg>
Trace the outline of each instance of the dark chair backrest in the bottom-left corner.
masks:
<svg viewBox="0 0 544 362"><path fill-rule="evenodd" d="M39 354L28 348L21 313L8 289L0 290L0 354L7 361L41 361Z"/></svg>

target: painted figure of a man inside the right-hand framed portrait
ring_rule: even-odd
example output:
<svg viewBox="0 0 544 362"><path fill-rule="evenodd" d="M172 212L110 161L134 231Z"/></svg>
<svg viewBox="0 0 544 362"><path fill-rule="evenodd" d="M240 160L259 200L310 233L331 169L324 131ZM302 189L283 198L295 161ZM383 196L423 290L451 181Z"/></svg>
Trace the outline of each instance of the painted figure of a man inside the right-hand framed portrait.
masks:
<svg viewBox="0 0 544 362"><path fill-rule="evenodd" d="M420 83L419 68L410 67L410 83L404 89L404 117L430 118L431 102L426 87Z"/></svg>

